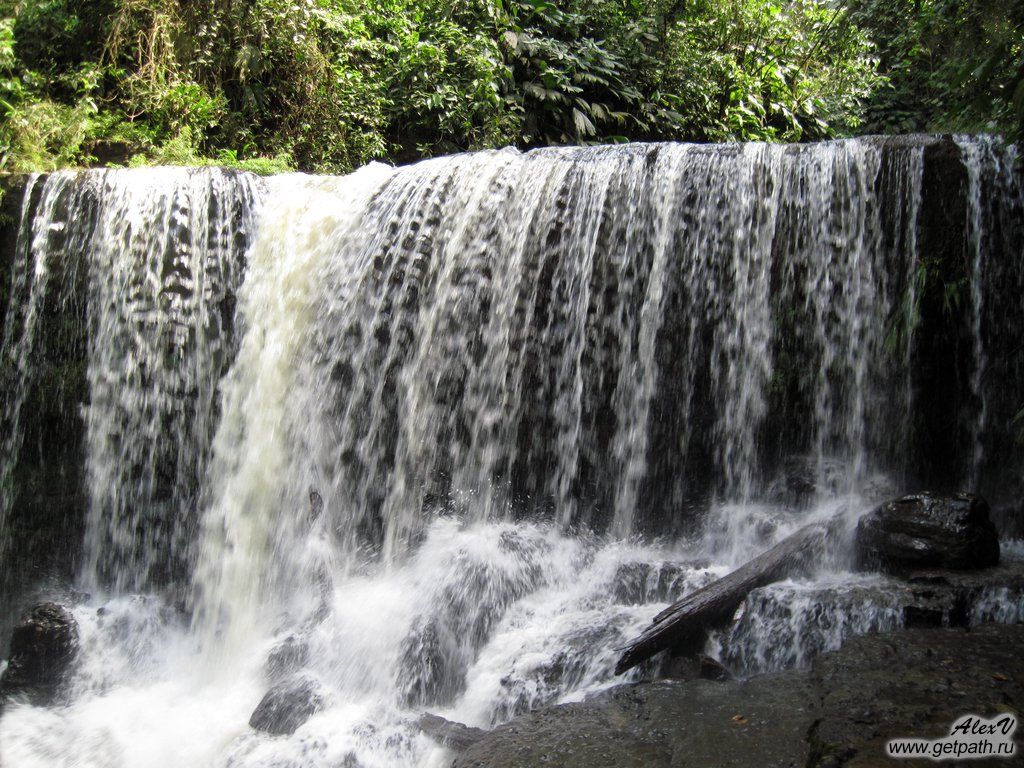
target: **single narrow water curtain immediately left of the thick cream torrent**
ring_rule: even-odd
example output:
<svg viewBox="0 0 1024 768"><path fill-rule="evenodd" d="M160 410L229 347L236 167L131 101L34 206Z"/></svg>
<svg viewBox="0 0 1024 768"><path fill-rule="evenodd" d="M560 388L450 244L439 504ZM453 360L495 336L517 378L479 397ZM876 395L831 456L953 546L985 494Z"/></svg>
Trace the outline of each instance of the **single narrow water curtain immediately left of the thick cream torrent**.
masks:
<svg viewBox="0 0 1024 768"><path fill-rule="evenodd" d="M85 569L131 591L187 572L258 191L220 171L94 182Z"/></svg>

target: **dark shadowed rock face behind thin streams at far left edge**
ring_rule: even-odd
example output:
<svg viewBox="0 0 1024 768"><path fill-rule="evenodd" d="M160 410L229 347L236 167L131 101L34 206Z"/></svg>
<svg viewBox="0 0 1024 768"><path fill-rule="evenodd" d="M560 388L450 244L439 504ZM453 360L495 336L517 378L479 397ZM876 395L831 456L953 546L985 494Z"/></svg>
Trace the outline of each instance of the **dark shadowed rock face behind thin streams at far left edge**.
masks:
<svg viewBox="0 0 1024 768"><path fill-rule="evenodd" d="M28 287L12 281L23 201L35 210L45 176L34 184L26 175L0 179L0 332L17 339L28 306ZM83 216L91 215L83 209ZM17 463L11 478L7 528L0 531L0 656L7 639L39 581L69 582L85 530L84 435L82 406L88 398L86 300L88 270L80 250L65 231L52 243L61 258L52 259L36 321L27 399L20 409ZM12 329L5 325L11 323ZM10 365L5 360L4 365ZM12 373L12 372L11 372ZM13 377L0 375L0 399ZM12 414L0 411L0 433L13 430ZM4 538L6 537L6 542ZM43 579L40 580L40 577Z"/></svg>

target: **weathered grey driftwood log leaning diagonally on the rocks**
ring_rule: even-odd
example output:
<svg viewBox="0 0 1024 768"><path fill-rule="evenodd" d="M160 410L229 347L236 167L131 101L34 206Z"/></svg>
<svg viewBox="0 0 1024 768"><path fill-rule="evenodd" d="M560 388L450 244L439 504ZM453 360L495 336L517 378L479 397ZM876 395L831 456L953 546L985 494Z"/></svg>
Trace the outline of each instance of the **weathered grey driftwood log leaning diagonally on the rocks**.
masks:
<svg viewBox="0 0 1024 768"><path fill-rule="evenodd" d="M745 565L673 603L623 648L615 674L633 669L658 651L692 642L710 628L727 623L751 590L784 579L804 565L808 555L820 553L827 534L827 523L805 525Z"/></svg>

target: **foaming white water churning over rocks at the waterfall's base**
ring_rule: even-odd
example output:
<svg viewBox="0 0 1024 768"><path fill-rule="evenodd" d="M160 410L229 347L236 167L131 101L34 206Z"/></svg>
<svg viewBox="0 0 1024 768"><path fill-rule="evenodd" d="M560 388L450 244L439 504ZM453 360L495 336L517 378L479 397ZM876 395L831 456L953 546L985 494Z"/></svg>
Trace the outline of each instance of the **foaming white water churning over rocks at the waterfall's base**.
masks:
<svg viewBox="0 0 1024 768"><path fill-rule="evenodd" d="M441 755L414 727L419 712L488 726L609 684L614 646L723 572L674 569L659 588L650 563L677 557L439 520L402 566L338 584L318 614L279 616L276 632L248 635L212 671L186 621L156 600L120 598L103 615L81 606L72 703L9 710L4 765L428 764ZM267 653L291 636L307 644L303 674L328 707L294 736L257 734L247 722Z"/></svg>

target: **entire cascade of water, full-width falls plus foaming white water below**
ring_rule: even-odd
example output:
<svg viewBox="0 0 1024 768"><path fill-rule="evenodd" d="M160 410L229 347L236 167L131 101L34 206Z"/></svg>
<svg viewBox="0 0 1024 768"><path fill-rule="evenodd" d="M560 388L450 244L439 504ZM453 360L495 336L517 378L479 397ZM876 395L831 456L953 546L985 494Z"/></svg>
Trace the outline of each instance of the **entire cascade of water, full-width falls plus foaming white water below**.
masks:
<svg viewBox="0 0 1024 768"><path fill-rule="evenodd" d="M985 403L955 417L977 477L1014 396L985 399L984 369L1012 359L989 264L1021 191L1012 148L959 139L970 309L949 346L974 351L950 364L964 391L936 390L928 324L958 322L925 316L936 146L33 180L5 419L17 431L31 396L47 266L79 254L78 583L97 592L75 608L67 706L8 709L4 764L439 764L420 713L487 726L613 684L614 649L669 601L926 476L918 434L943 397ZM834 579L752 596L719 651L774 669L898 625L856 584L831 613L801 608ZM291 736L248 726L271 686L317 702Z"/></svg>

